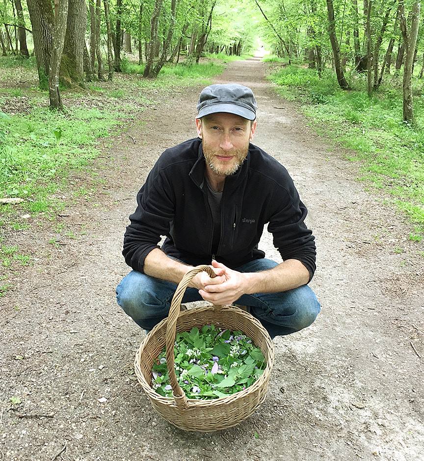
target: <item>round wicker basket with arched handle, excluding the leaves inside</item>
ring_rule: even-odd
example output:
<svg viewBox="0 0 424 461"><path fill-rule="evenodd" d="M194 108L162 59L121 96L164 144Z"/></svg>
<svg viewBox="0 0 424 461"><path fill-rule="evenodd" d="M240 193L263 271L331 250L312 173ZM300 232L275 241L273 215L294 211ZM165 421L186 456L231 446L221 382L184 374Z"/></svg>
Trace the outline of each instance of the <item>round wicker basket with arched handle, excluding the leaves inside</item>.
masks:
<svg viewBox="0 0 424 461"><path fill-rule="evenodd" d="M191 279L205 271L214 277L212 269L197 266L187 272L172 299L169 317L163 319L141 342L135 355L135 374L153 408L166 421L185 431L211 432L226 429L244 421L265 400L266 388L274 363L272 340L252 315L238 307L208 306L180 312L185 289ZM187 399L177 381L174 370L174 343L176 332L190 331L193 327L215 325L219 328L240 330L251 337L264 354L264 373L251 386L228 397L213 400ZM166 345L166 361L173 398L163 397L152 388L152 367Z"/></svg>

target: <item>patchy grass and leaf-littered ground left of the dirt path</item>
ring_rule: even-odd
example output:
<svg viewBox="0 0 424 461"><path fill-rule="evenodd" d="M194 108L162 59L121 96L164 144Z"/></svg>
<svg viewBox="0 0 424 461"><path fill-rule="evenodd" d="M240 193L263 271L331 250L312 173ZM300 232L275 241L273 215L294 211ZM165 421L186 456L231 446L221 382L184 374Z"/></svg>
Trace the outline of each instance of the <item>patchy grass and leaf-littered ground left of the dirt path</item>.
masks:
<svg viewBox="0 0 424 461"><path fill-rule="evenodd" d="M72 230L64 230L56 217L77 201L99 206L91 200L99 184L107 187L106 180L98 179L91 169L101 152L99 139L110 138L102 144L112 153L111 136L128 128L128 121L147 104L154 104L170 88L209 84L223 69L224 63L217 59L199 65L167 64L157 79L144 79L140 76L144 67L124 59L124 72L115 73L112 82L94 81L85 90L63 90L61 113L49 110L48 93L38 88L35 58L0 57L0 107L9 112L0 110L0 197L24 199L19 205L0 205L0 233L13 235L48 223L57 233L78 238ZM104 168L113 154L107 158ZM78 184L70 184L71 175L81 177ZM59 247L56 237L48 243ZM10 276L31 263L19 248L0 247L0 297L12 287Z"/></svg>

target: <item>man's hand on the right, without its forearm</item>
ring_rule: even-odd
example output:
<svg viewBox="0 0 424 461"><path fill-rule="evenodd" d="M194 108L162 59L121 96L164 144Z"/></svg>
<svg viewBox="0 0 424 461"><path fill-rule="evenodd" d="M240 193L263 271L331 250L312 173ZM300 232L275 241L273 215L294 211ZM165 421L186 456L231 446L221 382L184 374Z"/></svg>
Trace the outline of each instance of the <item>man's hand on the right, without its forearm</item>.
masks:
<svg viewBox="0 0 424 461"><path fill-rule="evenodd" d="M212 267L215 271L221 269L223 271L222 277L225 280L220 283L207 284L203 289L199 290L200 296L205 301L217 306L232 304L246 292L246 278L241 272L233 271L215 260L212 260Z"/></svg>

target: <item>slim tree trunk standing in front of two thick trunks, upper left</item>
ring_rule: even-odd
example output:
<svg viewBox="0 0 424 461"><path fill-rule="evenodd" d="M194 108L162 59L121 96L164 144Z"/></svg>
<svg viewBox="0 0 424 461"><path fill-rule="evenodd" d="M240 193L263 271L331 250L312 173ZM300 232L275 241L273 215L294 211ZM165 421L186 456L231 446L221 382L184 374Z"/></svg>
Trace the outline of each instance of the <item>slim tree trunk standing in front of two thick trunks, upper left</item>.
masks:
<svg viewBox="0 0 424 461"><path fill-rule="evenodd" d="M59 90L59 69L62 60L63 45L68 20L68 0L54 0L55 25L53 34L52 55L49 72L50 108L63 110Z"/></svg>

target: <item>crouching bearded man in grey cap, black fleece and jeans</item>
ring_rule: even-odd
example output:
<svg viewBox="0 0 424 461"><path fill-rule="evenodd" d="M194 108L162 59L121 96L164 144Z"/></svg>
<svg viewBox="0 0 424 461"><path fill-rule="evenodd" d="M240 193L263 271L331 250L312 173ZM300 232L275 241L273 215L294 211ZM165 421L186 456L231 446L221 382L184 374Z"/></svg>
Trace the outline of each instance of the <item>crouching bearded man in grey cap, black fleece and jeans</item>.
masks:
<svg viewBox="0 0 424 461"><path fill-rule="evenodd" d="M250 88L206 87L197 105L198 138L167 149L138 192L123 250L133 271L116 293L140 327L151 330L167 317L177 284L198 264L211 264L216 277L197 274L183 303L249 306L272 338L317 317L320 306L307 285L316 267L307 210L287 170L250 143L256 108ZM258 249L267 223L280 264Z"/></svg>

